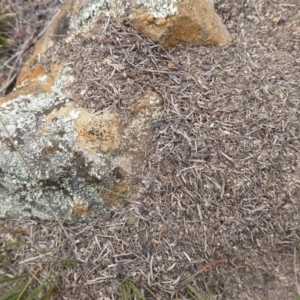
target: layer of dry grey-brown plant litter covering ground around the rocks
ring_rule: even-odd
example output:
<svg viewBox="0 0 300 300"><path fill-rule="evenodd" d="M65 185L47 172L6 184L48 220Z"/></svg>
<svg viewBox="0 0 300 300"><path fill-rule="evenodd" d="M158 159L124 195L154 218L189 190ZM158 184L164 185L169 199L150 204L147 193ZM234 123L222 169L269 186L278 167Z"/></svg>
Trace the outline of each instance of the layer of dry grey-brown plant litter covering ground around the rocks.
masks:
<svg viewBox="0 0 300 300"><path fill-rule="evenodd" d="M76 251L56 223L5 221L53 255L75 251L61 297L116 299L128 279L149 299L187 299L191 282L216 299L299 296L299 3L216 5L234 40L223 48L165 51L108 18L56 44L78 105L130 118L149 89L165 101L124 208L65 226Z"/></svg>

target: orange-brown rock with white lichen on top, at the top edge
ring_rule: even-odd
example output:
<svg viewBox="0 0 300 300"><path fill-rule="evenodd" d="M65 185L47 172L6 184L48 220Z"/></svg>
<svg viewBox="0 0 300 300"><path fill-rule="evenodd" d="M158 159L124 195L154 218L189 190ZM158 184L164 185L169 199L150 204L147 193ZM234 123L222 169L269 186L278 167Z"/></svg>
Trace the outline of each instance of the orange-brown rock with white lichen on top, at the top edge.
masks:
<svg viewBox="0 0 300 300"><path fill-rule="evenodd" d="M214 11L213 0L78 0L73 26L104 12L128 14L131 25L166 48L178 44L222 46L230 34Z"/></svg>

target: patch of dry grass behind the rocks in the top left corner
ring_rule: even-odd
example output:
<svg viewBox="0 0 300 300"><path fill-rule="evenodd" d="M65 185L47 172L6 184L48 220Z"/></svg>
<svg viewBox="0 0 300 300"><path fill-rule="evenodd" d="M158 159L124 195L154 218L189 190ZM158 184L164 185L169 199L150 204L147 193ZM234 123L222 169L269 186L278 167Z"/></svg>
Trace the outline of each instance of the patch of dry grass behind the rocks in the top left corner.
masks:
<svg viewBox="0 0 300 300"><path fill-rule="evenodd" d="M15 85L20 68L30 57L35 42L64 0L1 0L0 2L0 97ZM3 49L2 49L3 48Z"/></svg>

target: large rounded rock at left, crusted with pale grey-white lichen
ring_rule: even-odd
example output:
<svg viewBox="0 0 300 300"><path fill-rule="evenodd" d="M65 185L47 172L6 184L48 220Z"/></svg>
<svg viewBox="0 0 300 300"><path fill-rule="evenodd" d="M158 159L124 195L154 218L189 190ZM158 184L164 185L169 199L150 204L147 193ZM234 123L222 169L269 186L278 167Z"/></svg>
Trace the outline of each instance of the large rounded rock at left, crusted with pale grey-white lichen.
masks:
<svg viewBox="0 0 300 300"><path fill-rule="evenodd" d="M142 164L162 99L149 92L131 120L108 111L94 115L68 101L59 86L64 80L59 76L50 93L1 106L13 143L2 127L0 217L53 219L51 210L68 221L97 217L134 185L130 174Z"/></svg>

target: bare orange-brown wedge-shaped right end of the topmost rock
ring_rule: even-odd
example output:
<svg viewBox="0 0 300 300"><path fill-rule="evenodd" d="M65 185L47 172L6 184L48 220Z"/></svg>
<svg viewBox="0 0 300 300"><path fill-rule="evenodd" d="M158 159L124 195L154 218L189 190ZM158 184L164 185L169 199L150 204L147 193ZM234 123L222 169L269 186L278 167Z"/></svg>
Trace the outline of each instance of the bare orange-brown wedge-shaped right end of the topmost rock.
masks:
<svg viewBox="0 0 300 300"><path fill-rule="evenodd" d="M131 9L129 19L132 26L166 48L179 44L222 46L231 42L228 30L214 11L213 1L172 3L176 11L172 15L160 13L154 17L151 8L146 6Z"/></svg>

